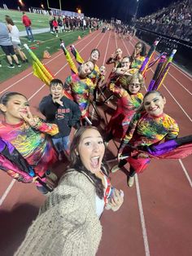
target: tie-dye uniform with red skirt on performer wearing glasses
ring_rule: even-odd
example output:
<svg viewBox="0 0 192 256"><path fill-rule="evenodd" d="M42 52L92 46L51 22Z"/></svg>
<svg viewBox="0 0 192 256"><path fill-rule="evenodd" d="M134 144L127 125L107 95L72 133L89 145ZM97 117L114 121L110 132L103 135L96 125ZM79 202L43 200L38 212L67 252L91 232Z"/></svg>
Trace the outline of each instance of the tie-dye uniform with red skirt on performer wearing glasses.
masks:
<svg viewBox="0 0 192 256"><path fill-rule="evenodd" d="M112 115L107 131L110 131L115 138L123 138L128 130L129 123L142 104L143 95L138 92L136 95L129 95L129 92L122 87L111 85L110 90L119 95L120 99L117 101L117 108Z"/></svg>

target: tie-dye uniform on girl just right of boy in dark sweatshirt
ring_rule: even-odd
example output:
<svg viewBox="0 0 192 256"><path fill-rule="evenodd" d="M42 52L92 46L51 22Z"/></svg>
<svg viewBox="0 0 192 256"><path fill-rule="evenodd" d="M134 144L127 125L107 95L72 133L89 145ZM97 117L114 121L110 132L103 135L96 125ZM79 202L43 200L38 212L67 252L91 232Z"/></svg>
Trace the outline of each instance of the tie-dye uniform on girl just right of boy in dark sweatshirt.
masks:
<svg viewBox="0 0 192 256"><path fill-rule="evenodd" d="M65 81L65 88L71 90L75 102L79 105L81 115L84 116L89 108L89 96L93 95L94 84L88 78L80 78L78 74L72 74Z"/></svg>

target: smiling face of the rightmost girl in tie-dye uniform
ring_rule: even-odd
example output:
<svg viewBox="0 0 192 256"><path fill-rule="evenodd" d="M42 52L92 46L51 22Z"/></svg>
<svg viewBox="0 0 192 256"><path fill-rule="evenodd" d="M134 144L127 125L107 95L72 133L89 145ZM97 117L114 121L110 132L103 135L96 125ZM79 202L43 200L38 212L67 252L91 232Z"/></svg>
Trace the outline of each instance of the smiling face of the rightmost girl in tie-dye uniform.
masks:
<svg viewBox="0 0 192 256"><path fill-rule="evenodd" d="M166 99L158 93L147 95L143 101L146 112L152 117L159 117L164 113L164 104Z"/></svg>

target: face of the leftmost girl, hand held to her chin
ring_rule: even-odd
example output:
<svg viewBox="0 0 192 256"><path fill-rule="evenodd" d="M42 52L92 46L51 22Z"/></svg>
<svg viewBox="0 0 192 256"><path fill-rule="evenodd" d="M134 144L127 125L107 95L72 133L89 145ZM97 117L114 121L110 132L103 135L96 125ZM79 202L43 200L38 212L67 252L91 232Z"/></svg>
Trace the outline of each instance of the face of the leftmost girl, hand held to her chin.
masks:
<svg viewBox="0 0 192 256"><path fill-rule="evenodd" d="M20 114L28 115L28 100L22 95L13 95L6 105L0 104L0 108L9 124L18 124L23 119Z"/></svg>

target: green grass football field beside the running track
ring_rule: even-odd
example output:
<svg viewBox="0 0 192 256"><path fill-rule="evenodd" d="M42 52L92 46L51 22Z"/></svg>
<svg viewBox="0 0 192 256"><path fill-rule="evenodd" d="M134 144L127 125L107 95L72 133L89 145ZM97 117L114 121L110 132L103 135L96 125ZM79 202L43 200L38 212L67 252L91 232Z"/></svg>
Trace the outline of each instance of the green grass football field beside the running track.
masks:
<svg viewBox="0 0 192 256"><path fill-rule="evenodd" d="M11 16L11 18L15 21L15 24L18 26L18 29L20 31L25 30L21 22L22 12L0 10L0 20L2 22L5 22L5 20L2 20L2 18L5 17L5 15ZM27 13L27 15L30 17L30 19L32 20L32 23L34 24L32 26L33 29L49 28L48 16L40 15L40 14L30 14L30 13ZM55 38L55 34L52 34L52 33L39 33L34 35L34 38L36 40L35 42L28 42L27 37L20 37L20 41L22 44L27 43L28 46L30 47L31 46L36 47L36 49L33 49L33 52L41 60L43 51L45 50L49 51L50 55L55 53L56 51L59 51L60 38L62 38L63 41L65 42L65 45L68 46L72 44L72 42L75 42L79 35L81 36L81 38L83 38L88 33L89 33L88 31L64 32L64 33L59 33L58 38ZM8 65L7 57L6 55L4 55L2 49L0 48L0 61L2 63L2 68L0 68L0 82L6 81L10 77L14 77L15 74L20 73L21 71L23 71L24 69L32 65L32 59L28 55L28 51L26 51L24 47L22 48L24 53L28 56L29 63L22 64L21 68L18 68L17 66L15 66L15 68L7 68L7 65ZM18 58L20 60L20 57Z"/></svg>

